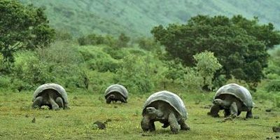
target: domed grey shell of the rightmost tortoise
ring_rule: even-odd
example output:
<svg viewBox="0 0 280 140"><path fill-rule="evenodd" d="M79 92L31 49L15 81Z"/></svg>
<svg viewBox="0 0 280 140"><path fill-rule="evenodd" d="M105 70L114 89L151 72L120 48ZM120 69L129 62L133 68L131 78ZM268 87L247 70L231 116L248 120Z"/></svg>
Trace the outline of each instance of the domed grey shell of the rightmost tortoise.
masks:
<svg viewBox="0 0 280 140"><path fill-rule="evenodd" d="M220 87L216 92L214 99L221 99L221 97L225 94L230 94L234 97L237 97L237 99L239 99L244 104L244 106L248 108L253 108L254 106L251 93L241 85L237 85L236 83L223 85L223 87Z"/></svg>

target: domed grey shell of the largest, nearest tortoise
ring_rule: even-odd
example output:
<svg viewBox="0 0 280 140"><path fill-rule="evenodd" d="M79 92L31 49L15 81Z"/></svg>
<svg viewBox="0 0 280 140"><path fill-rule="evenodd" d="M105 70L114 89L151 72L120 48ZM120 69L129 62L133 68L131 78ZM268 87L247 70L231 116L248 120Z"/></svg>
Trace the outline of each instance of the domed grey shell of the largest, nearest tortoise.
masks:
<svg viewBox="0 0 280 140"><path fill-rule="evenodd" d="M174 94L167 90L155 92L154 94L151 94L150 97L148 97L143 106L142 116L146 115L146 107L155 101L167 102L176 110L177 113L181 115L181 118L188 118L186 106L185 104L183 104L182 99L177 94Z"/></svg>

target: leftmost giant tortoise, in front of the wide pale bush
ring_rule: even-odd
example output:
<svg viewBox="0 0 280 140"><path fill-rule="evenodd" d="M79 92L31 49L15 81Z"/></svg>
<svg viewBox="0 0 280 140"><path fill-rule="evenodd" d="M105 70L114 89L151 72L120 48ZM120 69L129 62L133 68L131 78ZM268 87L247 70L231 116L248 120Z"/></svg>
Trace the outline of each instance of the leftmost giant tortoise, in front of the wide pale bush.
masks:
<svg viewBox="0 0 280 140"><path fill-rule="evenodd" d="M32 108L48 106L50 109L70 109L67 94L61 85L46 83L40 85L33 94Z"/></svg>

